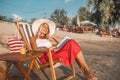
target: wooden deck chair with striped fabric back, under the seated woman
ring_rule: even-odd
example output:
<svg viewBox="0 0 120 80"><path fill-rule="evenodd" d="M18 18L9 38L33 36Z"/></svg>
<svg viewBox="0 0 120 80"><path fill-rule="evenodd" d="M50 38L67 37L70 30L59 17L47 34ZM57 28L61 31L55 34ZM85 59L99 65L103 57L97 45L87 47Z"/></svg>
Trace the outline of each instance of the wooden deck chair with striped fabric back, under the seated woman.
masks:
<svg viewBox="0 0 120 80"><path fill-rule="evenodd" d="M20 22L20 23L17 23L17 27L18 27L19 33L22 37L22 40L24 41L24 44L25 44L25 47L27 48L27 50L40 51L37 48L36 38L33 35L31 26L28 23ZM47 62L45 64L40 64L38 59L33 60L30 63L28 73L30 73L30 71L33 69L39 69L39 68L43 68L46 66L50 66L52 80L56 80L56 75L55 75L55 70L54 70L53 65L58 62L61 62L61 60L60 59L52 60L51 50L47 49L46 51L48 51L49 62ZM72 69L72 76L69 76L68 78L66 78L67 80L73 79L76 77L73 64L71 65L71 69Z"/></svg>

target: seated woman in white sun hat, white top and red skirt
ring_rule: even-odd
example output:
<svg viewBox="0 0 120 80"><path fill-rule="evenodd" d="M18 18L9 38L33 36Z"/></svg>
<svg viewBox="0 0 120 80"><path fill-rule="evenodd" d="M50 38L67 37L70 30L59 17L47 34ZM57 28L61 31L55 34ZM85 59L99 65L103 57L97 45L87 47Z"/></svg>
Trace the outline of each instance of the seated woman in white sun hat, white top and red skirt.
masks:
<svg viewBox="0 0 120 80"><path fill-rule="evenodd" d="M82 49L75 40L69 40L60 50L57 50L56 46L53 46L50 43L49 39L53 39L56 42L56 45L59 43L57 38L53 36L55 31L54 22L46 19L36 20L32 27L33 32L37 37L37 47L51 47L53 59L60 58L62 63L66 66L70 66L73 61L76 60L87 80L97 80L88 68L82 54ZM42 63L46 63L48 61L47 53L41 56L40 61Z"/></svg>

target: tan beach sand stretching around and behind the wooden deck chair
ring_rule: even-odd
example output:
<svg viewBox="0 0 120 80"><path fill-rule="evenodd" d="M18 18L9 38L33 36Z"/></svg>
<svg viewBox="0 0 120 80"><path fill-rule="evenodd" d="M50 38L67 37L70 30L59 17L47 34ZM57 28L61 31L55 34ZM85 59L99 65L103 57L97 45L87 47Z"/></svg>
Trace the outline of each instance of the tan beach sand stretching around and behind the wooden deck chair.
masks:
<svg viewBox="0 0 120 80"><path fill-rule="evenodd" d="M7 38L13 36L16 31L14 24L0 22L0 54L9 52ZM98 80L120 80L120 38L111 36L100 37L95 33L69 33L56 31L55 35L62 40L65 36L75 39L83 50L88 66ZM83 75L76 64L76 80L84 80ZM2 64L3 65L3 64ZM60 66L55 69L57 80L64 80L70 75L70 68ZM14 72L14 71L13 71ZM31 73L33 80L50 80L48 68ZM14 80L22 80L15 77Z"/></svg>

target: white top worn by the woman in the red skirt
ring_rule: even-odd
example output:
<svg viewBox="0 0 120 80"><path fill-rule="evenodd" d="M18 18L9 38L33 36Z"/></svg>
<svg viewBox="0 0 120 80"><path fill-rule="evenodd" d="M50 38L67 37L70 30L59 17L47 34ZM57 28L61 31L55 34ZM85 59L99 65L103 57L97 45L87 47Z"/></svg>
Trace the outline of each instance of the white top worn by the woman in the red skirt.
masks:
<svg viewBox="0 0 120 80"><path fill-rule="evenodd" d="M37 39L36 40L36 43L37 43L37 47L45 47L45 48L50 48L52 47L52 44L49 40L47 39Z"/></svg>

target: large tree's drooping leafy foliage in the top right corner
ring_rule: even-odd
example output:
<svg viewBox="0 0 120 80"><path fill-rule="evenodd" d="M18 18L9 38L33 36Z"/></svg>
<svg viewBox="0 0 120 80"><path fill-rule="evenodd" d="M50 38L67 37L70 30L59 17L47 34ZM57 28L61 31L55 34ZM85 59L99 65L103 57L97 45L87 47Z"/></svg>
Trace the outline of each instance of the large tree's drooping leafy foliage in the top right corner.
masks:
<svg viewBox="0 0 120 80"><path fill-rule="evenodd" d="M100 19L99 21L105 28L116 22L120 23L120 0L89 0L88 5L93 6L92 19L99 17L97 19Z"/></svg>

